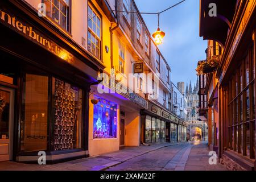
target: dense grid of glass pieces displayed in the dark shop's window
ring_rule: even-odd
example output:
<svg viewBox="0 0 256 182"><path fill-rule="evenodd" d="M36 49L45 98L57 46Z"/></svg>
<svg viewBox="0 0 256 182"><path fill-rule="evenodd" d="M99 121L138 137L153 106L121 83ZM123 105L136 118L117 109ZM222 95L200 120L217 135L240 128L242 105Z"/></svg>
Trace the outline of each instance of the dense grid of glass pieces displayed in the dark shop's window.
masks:
<svg viewBox="0 0 256 182"><path fill-rule="evenodd" d="M73 149L75 123L77 112L75 110L77 88L55 78L55 125L54 125L54 150Z"/></svg>

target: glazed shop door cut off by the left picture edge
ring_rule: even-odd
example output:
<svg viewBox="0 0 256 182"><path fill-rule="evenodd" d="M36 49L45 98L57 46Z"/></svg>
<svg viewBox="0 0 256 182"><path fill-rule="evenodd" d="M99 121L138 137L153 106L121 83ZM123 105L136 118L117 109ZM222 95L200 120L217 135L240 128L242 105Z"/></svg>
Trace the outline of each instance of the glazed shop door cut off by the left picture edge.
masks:
<svg viewBox="0 0 256 182"><path fill-rule="evenodd" d="M0 86L0 161L13 159L14 90Z"/></svg>

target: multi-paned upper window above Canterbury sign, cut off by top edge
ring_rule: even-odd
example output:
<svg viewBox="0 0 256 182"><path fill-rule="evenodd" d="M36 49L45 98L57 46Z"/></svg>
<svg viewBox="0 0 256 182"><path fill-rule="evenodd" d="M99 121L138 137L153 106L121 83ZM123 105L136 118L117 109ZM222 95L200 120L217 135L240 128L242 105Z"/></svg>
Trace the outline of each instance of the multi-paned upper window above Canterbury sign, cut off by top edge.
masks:
<svg viewBox="0 0 256 182"><path fill-rule="evenodd" d="M61 28L69 31L69 0L44 0L44 3L46 15Z"/></svg>

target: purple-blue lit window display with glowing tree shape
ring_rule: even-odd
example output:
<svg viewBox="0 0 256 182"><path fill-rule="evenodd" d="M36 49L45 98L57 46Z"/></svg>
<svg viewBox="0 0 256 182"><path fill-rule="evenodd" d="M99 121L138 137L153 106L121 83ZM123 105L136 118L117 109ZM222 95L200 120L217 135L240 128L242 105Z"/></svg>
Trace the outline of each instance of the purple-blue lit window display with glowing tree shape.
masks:
<svg viewBox="0 0 256 182"><path fill-rule="evenodd" d="M97 100L93 107L93 138L117 138L117 104Z"/></svg>

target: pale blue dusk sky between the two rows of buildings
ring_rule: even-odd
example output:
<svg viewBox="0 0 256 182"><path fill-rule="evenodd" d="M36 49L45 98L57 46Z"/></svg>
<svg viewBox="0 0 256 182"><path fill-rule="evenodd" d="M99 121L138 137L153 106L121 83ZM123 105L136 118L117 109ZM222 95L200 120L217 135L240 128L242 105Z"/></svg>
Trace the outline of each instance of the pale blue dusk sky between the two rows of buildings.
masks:
<svg viewBox="0 0 256 182"><path fill-rule="evenodd" d="M159 12L181 0L135 0L141 12ZM148 30L156 31L157 15L142 15ZM206 58L207 40L199 37L199 0L186 0L160 15L160 29L166 32L160 51L171 67L171 80L176 84L196 82L197 61Z"/></svg>

